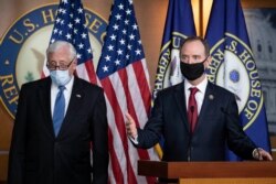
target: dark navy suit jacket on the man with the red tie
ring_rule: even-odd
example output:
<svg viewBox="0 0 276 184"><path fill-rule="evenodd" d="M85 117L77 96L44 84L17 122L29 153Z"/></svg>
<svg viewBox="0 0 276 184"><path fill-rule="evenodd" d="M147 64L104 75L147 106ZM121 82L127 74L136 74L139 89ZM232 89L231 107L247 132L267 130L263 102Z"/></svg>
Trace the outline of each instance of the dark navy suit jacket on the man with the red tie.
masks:
<svg viewBox="0 0 276 184"><path fill-rule="evenodd" d="M151 117L138 130L137 147L148 149L164 138L163 161L223 161L225 145L243 159L253 159L256 145L245 136L233 94L208 84L193 136L189 133L183 83L158 94Z"/></svg>

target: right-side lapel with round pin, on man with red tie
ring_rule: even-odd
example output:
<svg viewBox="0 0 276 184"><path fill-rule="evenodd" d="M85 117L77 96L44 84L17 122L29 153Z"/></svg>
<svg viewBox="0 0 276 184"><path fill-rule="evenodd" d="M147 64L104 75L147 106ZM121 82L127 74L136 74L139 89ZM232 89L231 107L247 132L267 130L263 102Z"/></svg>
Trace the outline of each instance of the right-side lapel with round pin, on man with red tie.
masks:
<svg viewBox="0 0 276 184"><path fill-rule="evenodd" d="M203 99L203 104L200 110L200 115L199 115L199 120L197 123L197 127L199 127L201 123L204 123L204 117L206 117L208 115L210 115L210 107L213 107L213 99L215 97L214 94L214 89L213 89L213 84L211 84L210 82L208 82L208 86L206 86L206 91L205 91L205 96ZM197 127L195 130L197 131Z"/></svg>

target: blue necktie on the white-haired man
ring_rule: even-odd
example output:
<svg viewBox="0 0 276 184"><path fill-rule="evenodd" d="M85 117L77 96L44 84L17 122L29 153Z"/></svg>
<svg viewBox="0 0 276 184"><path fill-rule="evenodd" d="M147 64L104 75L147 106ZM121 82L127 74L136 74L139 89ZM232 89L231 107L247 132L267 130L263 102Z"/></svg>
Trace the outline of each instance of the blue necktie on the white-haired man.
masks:
<svg viewBox="0 0 276 184"><path fill-rule="evenodd" d="M63 119L64 119L64 111L65 111L65 98L63 95L63 90L65 89L64 86L59 86L60 91L55 98L54 105L54 112L53 112L53 126L54 126L54 133L57 137Z"/></svg>

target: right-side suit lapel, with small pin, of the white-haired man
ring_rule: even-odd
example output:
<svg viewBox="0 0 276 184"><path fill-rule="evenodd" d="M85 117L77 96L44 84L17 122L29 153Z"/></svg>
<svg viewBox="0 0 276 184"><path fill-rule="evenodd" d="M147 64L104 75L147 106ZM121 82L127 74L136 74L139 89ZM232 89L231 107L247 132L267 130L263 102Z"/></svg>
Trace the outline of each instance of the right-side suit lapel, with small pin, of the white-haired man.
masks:
<svg viewBox="0 0 276 184"><path fill-rule="evenodd" d="M82 106L83 99L84 99L84 91L82 90L82 84L79 83L78 78L75 77L68 108L64 117L64 121L62 123L60 133L57 134L57 138L64 136L66 133L66 130L70 129L71 127L70 125L73 123L72 118L81 109L79 107Z"/></svg>

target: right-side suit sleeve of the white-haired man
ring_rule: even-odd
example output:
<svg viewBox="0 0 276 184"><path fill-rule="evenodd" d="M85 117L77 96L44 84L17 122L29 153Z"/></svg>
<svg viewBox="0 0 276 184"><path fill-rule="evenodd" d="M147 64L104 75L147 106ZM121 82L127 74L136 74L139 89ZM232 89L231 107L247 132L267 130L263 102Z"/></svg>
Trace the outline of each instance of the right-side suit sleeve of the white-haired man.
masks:
<svg viewBox="0 0 276 184"><path fill-rule="evenodd" d="M108 180L108 129L104 91L96 98L93 115L93 184L106 184Z"/></svg>

